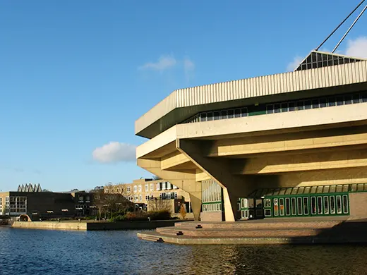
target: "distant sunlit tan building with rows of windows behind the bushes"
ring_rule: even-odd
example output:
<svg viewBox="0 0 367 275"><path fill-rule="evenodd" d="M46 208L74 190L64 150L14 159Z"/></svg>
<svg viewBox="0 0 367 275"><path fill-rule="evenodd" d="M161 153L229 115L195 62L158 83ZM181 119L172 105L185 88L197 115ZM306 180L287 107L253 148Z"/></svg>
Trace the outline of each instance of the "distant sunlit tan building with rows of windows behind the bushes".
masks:
<svg viewBox="0 0 367 275"><path fill-rule="evenodd" d="M137 209L150 211L160 208L157 207L157 200L162 200L164 202L159 204L164 204L164 207L168 207L172 214L179 213L181 204L185 205L186 212L191 213L190 196L188 193L169 183L169 181L141 178L134 180L133 183L107 185L104 187L104 192L124 195L128 200L136 204Z"/></svg>

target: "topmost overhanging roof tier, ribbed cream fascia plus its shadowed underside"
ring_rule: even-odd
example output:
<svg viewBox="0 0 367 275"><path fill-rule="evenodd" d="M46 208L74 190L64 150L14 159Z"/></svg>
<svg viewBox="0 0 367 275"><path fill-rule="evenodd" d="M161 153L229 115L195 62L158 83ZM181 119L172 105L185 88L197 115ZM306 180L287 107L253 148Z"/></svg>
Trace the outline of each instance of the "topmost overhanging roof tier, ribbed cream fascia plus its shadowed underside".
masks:
<svg viewBox="0 0 367 275"><path fill-rule="evenodd" d="M175 90L138 118L135 131L136 135L154 138L200 111L267 102L266 98L284 93L311 92L338 86L344 90L345 85L363 82L367 82L367 61Z"/></svg>

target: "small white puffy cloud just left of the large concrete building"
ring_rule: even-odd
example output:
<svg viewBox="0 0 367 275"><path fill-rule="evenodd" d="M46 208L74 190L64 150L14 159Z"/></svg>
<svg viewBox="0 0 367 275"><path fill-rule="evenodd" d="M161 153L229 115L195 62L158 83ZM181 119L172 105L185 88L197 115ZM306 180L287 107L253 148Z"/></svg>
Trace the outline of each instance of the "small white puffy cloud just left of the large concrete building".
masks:
<svg viewBox="0 0 367 275"><path fill-rule="evenodd" d="M92 152L93 159L104 164L136 159L136 146L123 142L109 142Z"/></svg>

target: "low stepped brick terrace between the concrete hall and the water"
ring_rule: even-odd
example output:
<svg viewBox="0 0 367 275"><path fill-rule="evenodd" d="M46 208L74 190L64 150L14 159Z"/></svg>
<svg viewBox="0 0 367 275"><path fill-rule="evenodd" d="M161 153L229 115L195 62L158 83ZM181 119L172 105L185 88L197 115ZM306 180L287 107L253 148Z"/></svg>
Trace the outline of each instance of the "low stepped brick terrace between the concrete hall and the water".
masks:
<svg viewBox="0 0 367 275"><path fill-rule="evenodd" d="M143 240L193 244L367 243L367 221L345 220L178 222L138 233Z"/></svg>

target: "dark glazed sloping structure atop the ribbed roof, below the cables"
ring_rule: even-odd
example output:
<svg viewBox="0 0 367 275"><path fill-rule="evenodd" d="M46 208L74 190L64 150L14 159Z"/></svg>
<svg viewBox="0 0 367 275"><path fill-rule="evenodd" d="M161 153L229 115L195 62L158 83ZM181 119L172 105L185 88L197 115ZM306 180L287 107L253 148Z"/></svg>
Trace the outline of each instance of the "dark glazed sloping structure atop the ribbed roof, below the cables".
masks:
<svg viewBox="0 0 367 275"><path fill-rule="evenodd" d="M342 54L332 54L324 51L311 51L294 71L305 71L313 68L330 67L366 60L360 57L344 56Z"/></svg>

